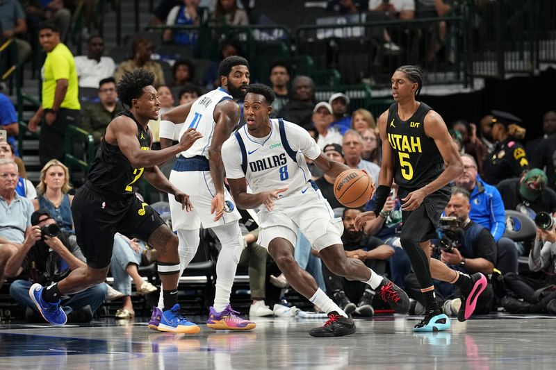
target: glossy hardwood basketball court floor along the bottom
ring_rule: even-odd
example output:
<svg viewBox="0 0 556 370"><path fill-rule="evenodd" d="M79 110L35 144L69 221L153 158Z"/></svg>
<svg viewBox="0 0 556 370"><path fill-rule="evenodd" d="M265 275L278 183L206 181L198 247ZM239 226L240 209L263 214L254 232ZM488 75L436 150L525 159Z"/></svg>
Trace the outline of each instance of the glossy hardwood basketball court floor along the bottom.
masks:
<svg viewBox="0 0 556 370"><path fill-rule="evenodd" d="M202 322L201 317L192 318ZM418 317L358 320L313 338L323 319L259 318L251 332L149 330L146 319L90 326L0 325L0 369L556 369L556 319L497 314L413 333Z"/></svg>

